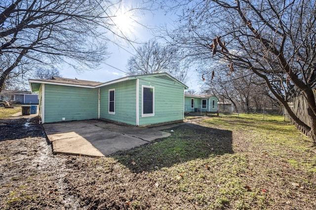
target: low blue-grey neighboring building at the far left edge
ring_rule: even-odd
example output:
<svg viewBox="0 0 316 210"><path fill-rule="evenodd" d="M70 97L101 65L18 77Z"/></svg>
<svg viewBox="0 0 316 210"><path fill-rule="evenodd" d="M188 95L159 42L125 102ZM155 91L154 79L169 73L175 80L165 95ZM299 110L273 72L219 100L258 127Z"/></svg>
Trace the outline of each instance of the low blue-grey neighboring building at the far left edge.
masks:
<svg viewBox="0 0 316 210"><path fill-rule="evenodd" d="M30 91L3 90L0 93L0 100L19 104L39 104L39 94L32 94Z"/></svg>

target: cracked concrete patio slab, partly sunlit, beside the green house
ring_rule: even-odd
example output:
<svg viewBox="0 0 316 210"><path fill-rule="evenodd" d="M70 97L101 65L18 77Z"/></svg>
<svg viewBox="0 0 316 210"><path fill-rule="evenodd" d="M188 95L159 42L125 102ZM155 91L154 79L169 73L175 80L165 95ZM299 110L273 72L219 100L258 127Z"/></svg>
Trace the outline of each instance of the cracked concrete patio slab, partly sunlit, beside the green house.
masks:
<svg viewBox="0 0 316 210"><path fill-rule="evenodd" d="M155 128L121 126L100 120L44 124L54 153L110 155L170 136Z"/></svg>

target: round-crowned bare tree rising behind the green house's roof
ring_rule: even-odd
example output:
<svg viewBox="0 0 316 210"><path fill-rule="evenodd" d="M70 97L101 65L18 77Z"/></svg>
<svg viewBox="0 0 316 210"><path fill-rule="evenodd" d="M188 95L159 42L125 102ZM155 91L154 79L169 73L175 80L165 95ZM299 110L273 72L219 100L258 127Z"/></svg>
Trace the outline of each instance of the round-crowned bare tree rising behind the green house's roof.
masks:
<svg viewBox="0 0 316 210"><path fill-rule="evenodd" d="M182 82L186 81L188 69L176 47L162 46L156 40L138 47L127 63L128 75L167 72Z"/></svg>

